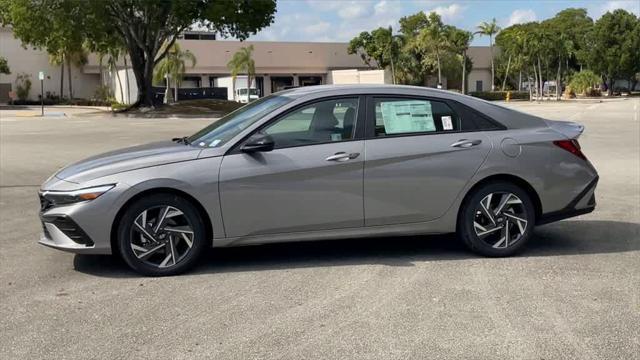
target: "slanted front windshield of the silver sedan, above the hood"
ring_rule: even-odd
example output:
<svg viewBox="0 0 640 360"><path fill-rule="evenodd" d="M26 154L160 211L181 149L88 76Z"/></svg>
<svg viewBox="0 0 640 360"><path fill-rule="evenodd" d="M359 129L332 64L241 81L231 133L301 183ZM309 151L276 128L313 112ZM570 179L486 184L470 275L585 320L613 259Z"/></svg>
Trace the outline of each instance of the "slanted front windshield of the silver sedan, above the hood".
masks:
<svg viewBox="0 0 640 360"><path fill-rule="evenodd" d="M256 100L213 122L187 140L201 147L222 146L263 116L292 100L282 95L270 95Z"/></svg>

